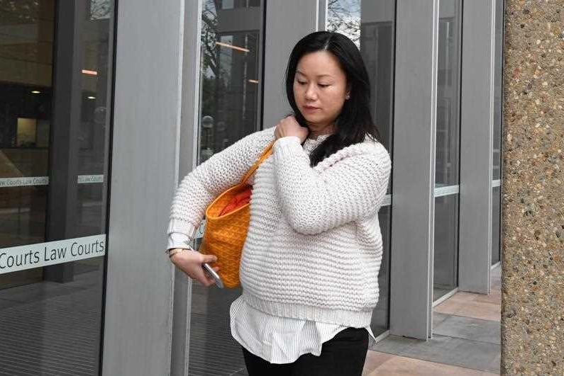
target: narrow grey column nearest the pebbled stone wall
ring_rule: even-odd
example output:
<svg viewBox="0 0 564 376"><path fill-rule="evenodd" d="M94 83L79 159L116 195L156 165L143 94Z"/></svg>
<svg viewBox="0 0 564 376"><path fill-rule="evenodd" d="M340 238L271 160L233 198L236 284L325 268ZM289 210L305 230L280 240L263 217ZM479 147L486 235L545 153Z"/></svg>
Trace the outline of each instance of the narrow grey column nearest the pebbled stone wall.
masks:
<svg viewBox="0 0 564 376"><path fill-rule="evenodd" d="M495 12L491 0L463 6L458 288L489 293Z"/></svg>

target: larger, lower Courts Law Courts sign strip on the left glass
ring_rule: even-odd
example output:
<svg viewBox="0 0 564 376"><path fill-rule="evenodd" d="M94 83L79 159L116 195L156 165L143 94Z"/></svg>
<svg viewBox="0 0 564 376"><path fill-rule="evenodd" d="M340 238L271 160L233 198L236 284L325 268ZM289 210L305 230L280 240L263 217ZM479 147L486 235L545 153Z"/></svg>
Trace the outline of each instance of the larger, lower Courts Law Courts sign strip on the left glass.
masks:
<svg viewBox="0 0 564 376"><path fill-rule="evenodd" d="M106 234L0 249L0 274L104 256Z"/></svg>

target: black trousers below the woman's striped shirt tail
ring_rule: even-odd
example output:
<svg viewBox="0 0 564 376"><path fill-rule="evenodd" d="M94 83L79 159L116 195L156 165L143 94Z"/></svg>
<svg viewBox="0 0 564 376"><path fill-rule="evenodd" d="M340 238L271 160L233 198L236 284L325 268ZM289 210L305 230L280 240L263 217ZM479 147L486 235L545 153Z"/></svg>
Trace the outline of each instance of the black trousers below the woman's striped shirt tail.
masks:
<svg viewBox="0 0 564 376"><path fill-rule="evenodd" d="M246 348L243 356L249 376L360 376L367 351L366 329L347 328L323 344L321 355L307 353L294 363L269 363Z"/></svg>

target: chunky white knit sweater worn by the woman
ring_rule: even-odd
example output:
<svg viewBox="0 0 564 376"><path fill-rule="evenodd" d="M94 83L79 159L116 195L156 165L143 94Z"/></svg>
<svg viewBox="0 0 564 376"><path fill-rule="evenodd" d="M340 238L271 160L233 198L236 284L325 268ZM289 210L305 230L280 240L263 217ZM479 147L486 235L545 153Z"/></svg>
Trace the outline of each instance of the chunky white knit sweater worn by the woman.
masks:
<svg viewBox="0 0 564 376"><path fill-rule="evenodd" d="M255 132L185 176L168 234L192 239L207 205L240 181L272 139L273 127ZM387 150L370 137L313 168L298 137L278 139L251 178L240 264L245 302L280 317L369 325L382 261L377 212L390 171Z"/></svg>

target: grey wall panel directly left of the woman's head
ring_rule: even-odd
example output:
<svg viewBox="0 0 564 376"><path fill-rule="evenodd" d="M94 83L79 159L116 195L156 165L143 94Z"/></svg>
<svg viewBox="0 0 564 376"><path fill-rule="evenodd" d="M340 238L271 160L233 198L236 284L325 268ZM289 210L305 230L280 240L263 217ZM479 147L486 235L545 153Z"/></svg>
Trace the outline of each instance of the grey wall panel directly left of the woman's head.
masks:
<svg viewBox="0 0 564 376"><path fill-rule="evenodd" d="M317 0L267 1L265 91L263 127L275 126L289 112L284 72L292 47L305 35L318 30Z"/></svg>

